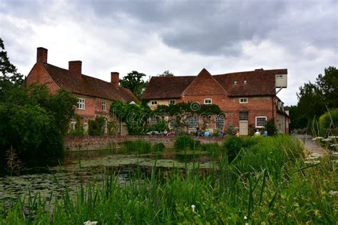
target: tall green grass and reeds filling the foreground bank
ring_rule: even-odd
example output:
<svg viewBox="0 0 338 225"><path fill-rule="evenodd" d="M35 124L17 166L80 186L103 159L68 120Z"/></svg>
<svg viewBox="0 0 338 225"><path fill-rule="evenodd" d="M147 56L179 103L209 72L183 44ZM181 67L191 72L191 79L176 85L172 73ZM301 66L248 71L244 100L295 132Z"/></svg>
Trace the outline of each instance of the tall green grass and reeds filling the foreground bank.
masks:
<svg viewBox="0 0 338 225"><path fill-rule="evenodd" d="M250 224L338 221L337 162L324 157L305 164L302 146L288 136L251 139L230 163L219 147L217 163L203 173L198 167L163 177L155 169L150 177L135 172L124 187L111 174L103 184L83 184L75 197L65 192L53 209L39 196L26 197L28 205L24 198L2 202L0 224L244 224L245 216Z"/></svg>

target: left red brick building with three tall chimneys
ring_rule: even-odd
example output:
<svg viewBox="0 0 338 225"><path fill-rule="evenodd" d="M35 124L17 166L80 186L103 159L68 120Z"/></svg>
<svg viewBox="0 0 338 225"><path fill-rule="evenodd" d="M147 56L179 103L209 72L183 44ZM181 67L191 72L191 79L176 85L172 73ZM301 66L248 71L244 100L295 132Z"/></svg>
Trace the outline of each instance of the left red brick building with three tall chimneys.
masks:
<svg viewBox="0 0 338 225"><path fill-rule="evenodd" d="M63 88L78 98L76 113L83 118L83 127L88 128L88 120L101 115L107 120L109 108L114 100L126 103L137 102L135 95L127 88L119 86L119 73L111 73L111 82L82 74L81 61L69 61L68 69L53 66L47 62L48 50L37 48L36 63L26 77L26 84L45 84L51 93ZM75 121L72 122L75 126Z"/></svg>

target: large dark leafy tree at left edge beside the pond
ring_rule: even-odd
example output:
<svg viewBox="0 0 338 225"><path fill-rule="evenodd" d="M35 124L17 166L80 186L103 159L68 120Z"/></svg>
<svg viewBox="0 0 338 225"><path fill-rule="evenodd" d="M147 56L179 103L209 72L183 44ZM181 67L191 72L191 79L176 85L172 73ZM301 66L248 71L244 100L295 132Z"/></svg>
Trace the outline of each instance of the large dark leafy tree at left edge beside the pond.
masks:
<svg viewBox="0 0 338 225"><path fill-rule="evenodd" d="M51 95L46 86L22 85L22 75L10 63L1 39L0 46L0 161L10 149L24 162L62 157L76 98L65 90Z"/></svg>

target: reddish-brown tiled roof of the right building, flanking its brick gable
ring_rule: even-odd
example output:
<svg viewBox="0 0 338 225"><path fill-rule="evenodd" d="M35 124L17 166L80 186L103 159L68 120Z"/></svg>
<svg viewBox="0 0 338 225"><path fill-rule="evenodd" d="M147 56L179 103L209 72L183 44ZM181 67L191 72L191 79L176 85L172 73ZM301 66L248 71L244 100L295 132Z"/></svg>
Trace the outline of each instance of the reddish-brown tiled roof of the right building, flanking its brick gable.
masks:
<svg viewBox="0 0 338 225"><path fill-rule="evenodd" d="M253 70L212 75L229 96L276 95L275 75L287 74L287 69ZM196 76L151 78L142 99L180 98ZM246 80L246 83L245 83ZM237 81L237 85L234 82Z"/></svg>

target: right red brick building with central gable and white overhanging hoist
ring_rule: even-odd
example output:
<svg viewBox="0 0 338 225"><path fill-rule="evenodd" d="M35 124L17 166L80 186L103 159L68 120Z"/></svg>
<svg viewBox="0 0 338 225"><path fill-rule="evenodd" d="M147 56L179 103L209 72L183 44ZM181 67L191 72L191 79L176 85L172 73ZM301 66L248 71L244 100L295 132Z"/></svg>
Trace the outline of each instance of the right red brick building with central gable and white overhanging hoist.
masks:
<svg viewBox="0 0 338 225"><path fill-rule="evenodd" d="M289 116L276 88L285 88L287 69L263 70L211 75L203 69L197 76L152 77L142 95L150 108L182 102L216 104L225 112L209 125L210 130L235 127L240 135L262 128L274 120L277 130L289 132ZM188 128L195 130L198 122L192 118Z"/></svg>

